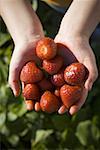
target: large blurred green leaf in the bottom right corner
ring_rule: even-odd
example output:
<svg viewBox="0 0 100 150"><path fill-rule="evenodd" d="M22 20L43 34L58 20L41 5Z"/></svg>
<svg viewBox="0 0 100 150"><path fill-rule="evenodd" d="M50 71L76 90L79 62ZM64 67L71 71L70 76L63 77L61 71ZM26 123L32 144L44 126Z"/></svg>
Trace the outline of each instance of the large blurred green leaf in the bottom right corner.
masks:
<svg viewBox="0 0 100 150"><path fill-rule="evenodd" d="M77 126L76 136L82 145L92 145L99 140L100 131L90 120L86 120Z"/></svg>

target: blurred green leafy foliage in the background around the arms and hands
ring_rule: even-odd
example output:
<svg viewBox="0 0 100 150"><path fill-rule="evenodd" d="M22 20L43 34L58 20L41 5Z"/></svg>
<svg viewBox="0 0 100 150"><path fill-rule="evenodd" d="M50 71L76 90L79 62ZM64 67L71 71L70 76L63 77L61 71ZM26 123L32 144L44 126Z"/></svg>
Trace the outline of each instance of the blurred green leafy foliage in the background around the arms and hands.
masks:
<svg viewBox="0 0 100 150"><path fill-rule="evenodd" d="M37 4L35 4L35 9ZM44 31L54 37L62 14L40 2L37 8ZM100 43L91 43L100 65ZM23 98L15 98L7 78L13 41L0 20L0 145L14 150L99 150L100 149L100 79L86 103L74 116L48 115L26 111Z"/></svg>

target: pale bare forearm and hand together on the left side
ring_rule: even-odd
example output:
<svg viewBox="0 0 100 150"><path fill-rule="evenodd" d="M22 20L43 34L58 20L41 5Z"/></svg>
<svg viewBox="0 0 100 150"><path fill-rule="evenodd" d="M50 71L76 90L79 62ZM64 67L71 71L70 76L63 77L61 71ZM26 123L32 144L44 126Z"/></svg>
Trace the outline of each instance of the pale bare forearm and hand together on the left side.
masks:
<svg viewBox="0 0 100 150"><path fill-rule="evenodd" d="M29 1L2 0L0 15L6 23L15 44L9 67L9 85L15 96L19 95L19 76L22 67L30 60L36 60L35 47L44 37L41 22Z"/></svg>

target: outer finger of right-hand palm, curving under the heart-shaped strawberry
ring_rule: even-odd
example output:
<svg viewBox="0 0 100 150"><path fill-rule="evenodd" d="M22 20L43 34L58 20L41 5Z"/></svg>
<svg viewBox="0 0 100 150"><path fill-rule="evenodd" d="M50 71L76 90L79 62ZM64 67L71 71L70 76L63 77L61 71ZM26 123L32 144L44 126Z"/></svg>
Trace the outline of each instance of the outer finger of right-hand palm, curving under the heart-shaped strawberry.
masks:
<svg viewBox="0 0 100 150"><path fill-rule="evenodd" d="M70 110L69 110L69 113L70 113L71 115L73 115L73 114L75 114L76 112L79 111L79 109L80 109L80 108L82 107L82 105L85 103L85 100L86 100L87 95L88 95L88 90L86 90L86 89L84 88L81 99L80 99L76 104L74 104L73 106L71 106L71 108L70 108Z"/></svg>

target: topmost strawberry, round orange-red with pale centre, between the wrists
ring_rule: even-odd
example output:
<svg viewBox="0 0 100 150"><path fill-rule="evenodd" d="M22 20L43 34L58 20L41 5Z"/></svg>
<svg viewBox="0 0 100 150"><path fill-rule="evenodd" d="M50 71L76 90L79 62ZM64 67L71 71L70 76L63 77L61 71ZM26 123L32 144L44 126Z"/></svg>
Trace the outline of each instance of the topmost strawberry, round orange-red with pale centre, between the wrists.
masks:
<svg viewBox="0 0 100 150"><path fill-rule="evenodd" d="M36 46L36 54L40 59L52 59L56 56L57 45L53 39L45 37Z"/></svg>

